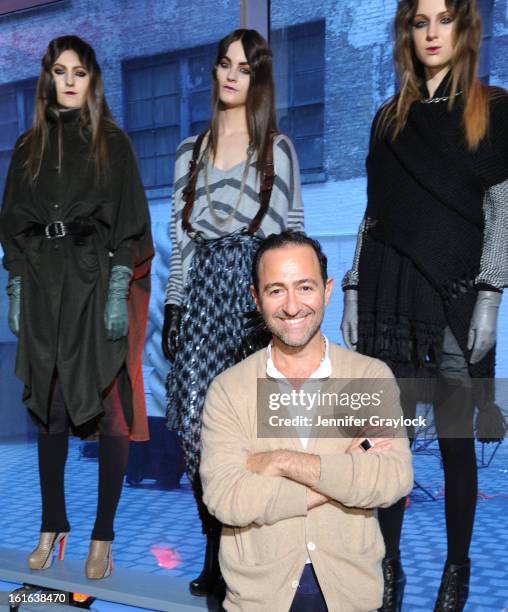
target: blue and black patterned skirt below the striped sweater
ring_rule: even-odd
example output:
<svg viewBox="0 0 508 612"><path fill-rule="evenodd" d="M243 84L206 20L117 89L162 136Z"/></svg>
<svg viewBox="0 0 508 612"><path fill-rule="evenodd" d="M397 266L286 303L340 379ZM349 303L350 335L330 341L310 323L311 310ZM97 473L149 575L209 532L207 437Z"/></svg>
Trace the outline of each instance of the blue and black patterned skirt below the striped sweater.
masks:
<svg viewBox="0 0 508 612"><path fill-rule="evenodd" d="M258 245L258 238L241 232L196 240L178 351L166 382L168 427L180 432L191 482L199 469L201 415L208 386L250 352L246 313L255 309L249 287Z"/></svg>

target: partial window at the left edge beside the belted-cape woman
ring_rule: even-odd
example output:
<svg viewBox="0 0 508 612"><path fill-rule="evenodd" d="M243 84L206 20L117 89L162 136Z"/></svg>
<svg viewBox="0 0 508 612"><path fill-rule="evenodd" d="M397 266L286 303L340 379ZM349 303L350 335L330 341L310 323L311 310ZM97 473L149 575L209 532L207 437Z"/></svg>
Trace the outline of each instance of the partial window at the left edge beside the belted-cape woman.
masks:
<svg viewBox="0 0 508 612"><path fill-rule="evenodd" d="M16 139L32 125L37 79L0 85L0 193Z"/></svg>

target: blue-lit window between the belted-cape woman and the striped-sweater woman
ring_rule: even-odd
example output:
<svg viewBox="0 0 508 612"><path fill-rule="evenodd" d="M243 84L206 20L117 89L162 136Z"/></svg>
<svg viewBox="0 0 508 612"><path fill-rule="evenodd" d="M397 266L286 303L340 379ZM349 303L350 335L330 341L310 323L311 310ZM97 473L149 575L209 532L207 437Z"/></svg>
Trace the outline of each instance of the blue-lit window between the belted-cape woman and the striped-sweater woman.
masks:
<svg viewBox="0 0 508 612"><path fill-rule="evenodd" d="M206 45L123 63L125 126L145 187L169 186L178 143L205 128L214 60Z"/></svg>

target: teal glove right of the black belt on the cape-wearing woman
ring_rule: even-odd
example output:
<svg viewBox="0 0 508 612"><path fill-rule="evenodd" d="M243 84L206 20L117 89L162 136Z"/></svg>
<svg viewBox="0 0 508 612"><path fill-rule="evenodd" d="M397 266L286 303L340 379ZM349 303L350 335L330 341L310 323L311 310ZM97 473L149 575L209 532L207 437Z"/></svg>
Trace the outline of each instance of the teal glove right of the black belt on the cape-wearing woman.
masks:
<svg viewBox="0 0 508 612"><path fill-rule="evenodd" d="M104 310L104 325L108 340L120 340L129 331L127 297L132 270L127 266L114 266L109 277L108 298Z"/></svg>

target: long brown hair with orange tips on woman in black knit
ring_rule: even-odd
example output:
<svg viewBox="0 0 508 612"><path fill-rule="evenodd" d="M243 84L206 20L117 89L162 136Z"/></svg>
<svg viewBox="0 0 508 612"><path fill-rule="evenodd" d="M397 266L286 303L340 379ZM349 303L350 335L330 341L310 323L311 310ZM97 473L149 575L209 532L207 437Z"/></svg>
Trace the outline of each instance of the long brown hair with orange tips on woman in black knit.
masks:
<svg viewBox="0 0 508 612"><path fill-rule="evenodd" d="M476 0L446 0L454 19L454 52L451 61L451 88L448 107L453 108L455 94L462 92L463 124L468 146L475 149L489 124L489 93L476 76L481 43L481 19ZM399 0L395 15L394 62L400 91L385 107L380 129L390 129L394 138L404 128L413 102L423 98L424 70L415 54L411 30L418 10L418 0Z"/></svg>

